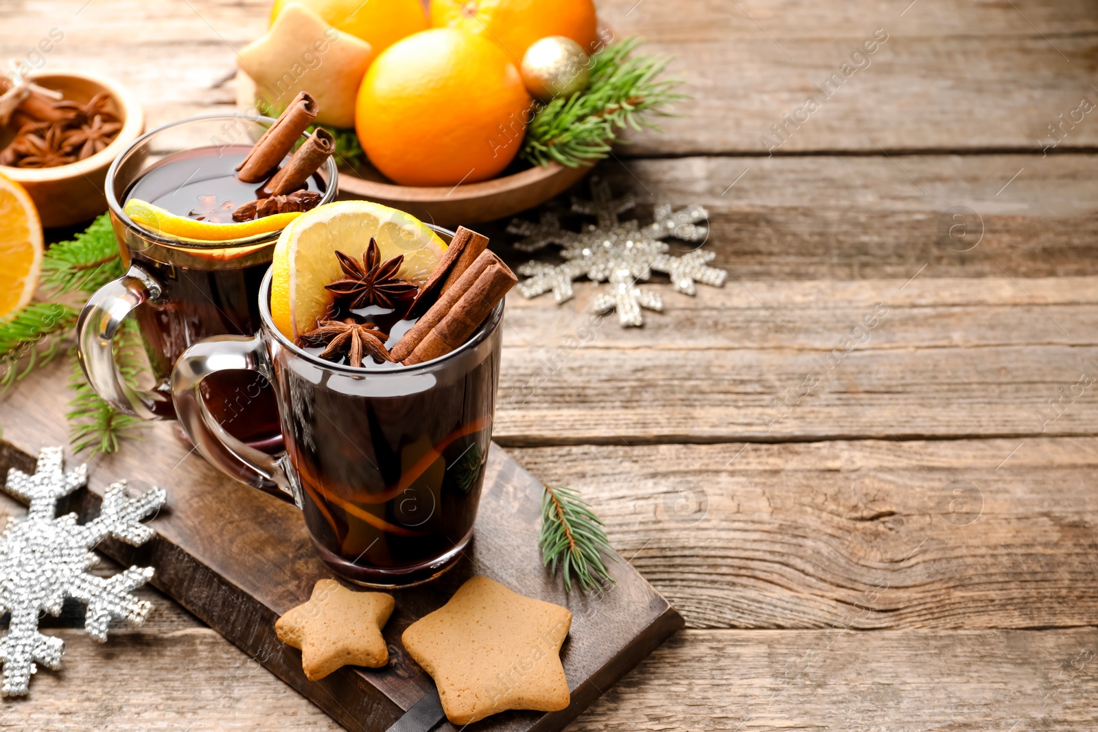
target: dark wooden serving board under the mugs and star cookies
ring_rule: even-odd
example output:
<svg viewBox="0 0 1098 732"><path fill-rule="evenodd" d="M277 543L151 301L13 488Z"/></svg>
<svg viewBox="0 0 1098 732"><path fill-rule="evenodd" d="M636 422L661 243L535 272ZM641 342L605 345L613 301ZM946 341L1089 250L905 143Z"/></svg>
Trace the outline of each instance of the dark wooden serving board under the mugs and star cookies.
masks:
<svg viewBox="0 0 1098 732"><path fill-rule="evenodd" d="M167 426L160 427L144 444L127 446L143 450L144 462L152 465L142 472L168 491L166 508L150 522L157 536L139 548L107 541L99 550L123 564L154 566L154 585L348 730L386 730L434 688L405 654L401 633L444 605L473 574L572 611L572 630L561 654L572 703L552 713L504 712L468 725L469 732L560 730L683 626L666 600L620 559L610 565L617 584L605 593L565 595L559 578L542 570L537 548L541 484L493 444L466 558L433 583L393 593L396 609L384 628L389 665L344 667L310 682L301 669L301 653L274 637L274 620L306 600L317 579L333 576L313 553L300 513L206 464L173 470L169 460L178 460L178 448L156 449L157 442L171 439L163 429ZM157 465L158 460L166 464ZM202 462L197 454L186 460ZM34 464L35 455L0 442L2 475L9 468L33 472ZM67 465L74 464L69 459ZM108 482L124 477L107 472L91 466L89 489L77 493L65 508L83 515L98 511ZM448 722L438 729L453 730Z"/></svg>

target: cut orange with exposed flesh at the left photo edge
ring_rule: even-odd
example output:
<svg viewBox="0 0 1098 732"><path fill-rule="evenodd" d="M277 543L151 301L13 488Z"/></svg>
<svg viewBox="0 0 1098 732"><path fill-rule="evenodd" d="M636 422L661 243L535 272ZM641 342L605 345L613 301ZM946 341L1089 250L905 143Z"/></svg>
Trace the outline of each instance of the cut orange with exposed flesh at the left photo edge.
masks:
<svg viewBox="0 0 1098 732"><path fill-rule="evenodd" d="M42 222L26 190L0 174L0 318L31 302L42 270Z"/></svg>

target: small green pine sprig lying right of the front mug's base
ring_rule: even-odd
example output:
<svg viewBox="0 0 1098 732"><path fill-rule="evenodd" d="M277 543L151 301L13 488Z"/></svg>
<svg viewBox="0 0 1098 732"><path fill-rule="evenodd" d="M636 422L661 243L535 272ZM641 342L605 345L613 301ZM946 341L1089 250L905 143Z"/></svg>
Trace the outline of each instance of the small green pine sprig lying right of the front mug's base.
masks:
<svg viewBox="0 0 1098 732"><path fill-rule="evenodd" d="M580 494L568 486L546 486L541 497L541 560L557 575L560 565L564 592L572 592L572 577L589 592L610 579L603 555L613 561L613 549L603 522Z"/></svg>

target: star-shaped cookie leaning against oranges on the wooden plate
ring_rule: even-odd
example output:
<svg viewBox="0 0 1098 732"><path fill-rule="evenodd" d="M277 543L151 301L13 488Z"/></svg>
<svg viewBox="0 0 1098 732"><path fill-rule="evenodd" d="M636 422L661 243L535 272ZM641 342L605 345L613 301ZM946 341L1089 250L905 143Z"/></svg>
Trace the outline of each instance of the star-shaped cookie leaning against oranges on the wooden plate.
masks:
<svg viewBox="0 0 1098 732"><path fill-rule="evenodd" d="M299 91L316 100L316 121L355 126L355 100L373 52L370 44L324 22L312 10L291 3L267 35L239 53L238 64L256 83L256 99L273 111Z"/></svg>

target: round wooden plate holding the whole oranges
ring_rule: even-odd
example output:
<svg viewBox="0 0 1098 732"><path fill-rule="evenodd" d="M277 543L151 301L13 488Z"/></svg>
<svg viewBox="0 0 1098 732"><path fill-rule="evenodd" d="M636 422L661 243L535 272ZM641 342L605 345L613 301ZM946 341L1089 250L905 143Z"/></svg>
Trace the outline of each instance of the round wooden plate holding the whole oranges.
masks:
<svg viewBox="0 0 1098 732"><path fill-rule="evenodd" d="M236 74L236 105L255 111L256 83L243 71ZM338 154L338 151L337 151ZM339 198L377 201L406 211L419 221L456 228L513 216L565 191L592 166L568 168L557 162L536 166L479 183L437 188L397 185L373 166L339 167Z"/></svg>

